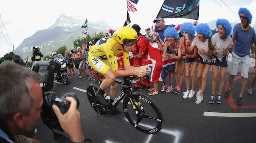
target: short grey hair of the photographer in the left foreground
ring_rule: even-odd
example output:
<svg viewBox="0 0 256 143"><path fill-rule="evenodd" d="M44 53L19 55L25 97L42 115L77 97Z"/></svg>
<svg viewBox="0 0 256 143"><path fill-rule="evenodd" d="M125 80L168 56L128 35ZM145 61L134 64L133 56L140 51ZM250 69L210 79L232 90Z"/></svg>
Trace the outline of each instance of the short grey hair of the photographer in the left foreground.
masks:
<svg viewBox="0 0 256 143"><path fill-rule="evenodd" d="M3 62L0 71L0 118L10 119L19 111L30 115L31 86L33 81L39 82L37 73L11 61Z"/></svg>

